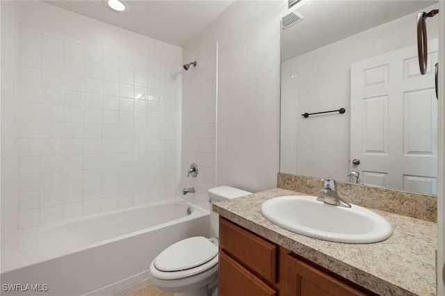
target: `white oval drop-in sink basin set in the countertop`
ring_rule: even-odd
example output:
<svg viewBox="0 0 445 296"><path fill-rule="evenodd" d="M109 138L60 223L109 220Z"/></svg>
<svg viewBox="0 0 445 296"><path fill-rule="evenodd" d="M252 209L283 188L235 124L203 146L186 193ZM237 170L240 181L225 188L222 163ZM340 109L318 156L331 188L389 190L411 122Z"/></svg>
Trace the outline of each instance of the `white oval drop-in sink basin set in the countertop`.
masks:
<svg viewBox="0 0 445 296"><path fill-rule="evenodd" d="M331 242L380 242L392 234L391 224L366 208L332 206L306 195L269 199L261 205L261 213L279 227Z"/></svg>

